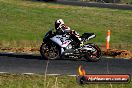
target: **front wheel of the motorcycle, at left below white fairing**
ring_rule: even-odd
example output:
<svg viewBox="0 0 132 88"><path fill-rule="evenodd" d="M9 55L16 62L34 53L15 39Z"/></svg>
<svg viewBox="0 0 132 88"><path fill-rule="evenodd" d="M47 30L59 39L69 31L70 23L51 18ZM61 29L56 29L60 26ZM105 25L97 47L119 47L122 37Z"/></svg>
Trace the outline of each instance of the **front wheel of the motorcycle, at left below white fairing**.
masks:
<svg viewBox="0 0 132 88"><path fill-rule="evenodd" d="M60 58L59 47L53 43L42 43L40 47L40 54L44 59Z"/></svg>

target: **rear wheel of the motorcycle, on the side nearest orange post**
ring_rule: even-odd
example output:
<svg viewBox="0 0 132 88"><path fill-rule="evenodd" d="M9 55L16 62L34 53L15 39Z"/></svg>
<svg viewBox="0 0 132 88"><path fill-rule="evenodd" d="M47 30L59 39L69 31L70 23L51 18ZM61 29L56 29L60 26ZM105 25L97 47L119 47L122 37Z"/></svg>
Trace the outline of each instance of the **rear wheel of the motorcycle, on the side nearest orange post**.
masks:
<svg viewBox="0 0 132 88"><path fill-rule="evenodd" d="M92 62L99 61L101 58L101 49L95 44L91 46L93 48L93 51L88 51L85 55L85 58Z"/></svg>

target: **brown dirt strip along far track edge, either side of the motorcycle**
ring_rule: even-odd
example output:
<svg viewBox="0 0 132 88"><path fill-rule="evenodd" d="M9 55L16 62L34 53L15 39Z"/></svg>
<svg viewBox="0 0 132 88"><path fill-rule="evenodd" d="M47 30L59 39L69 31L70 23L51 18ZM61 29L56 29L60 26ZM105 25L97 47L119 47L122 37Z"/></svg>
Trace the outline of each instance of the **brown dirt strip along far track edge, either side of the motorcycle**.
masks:
<svg viewBox="0 0 132 88"><path fill-rule="evenodd" d="M39 48L36 48L36 47L19 47L19 48L2 48L2 47L0 47L0 51L1 52L39 54ZM132 52L128 51L128 50L118 50L118 49L110 49L108 51L102 50L102 55L112 56L115 58L132 59Z"/></svg>

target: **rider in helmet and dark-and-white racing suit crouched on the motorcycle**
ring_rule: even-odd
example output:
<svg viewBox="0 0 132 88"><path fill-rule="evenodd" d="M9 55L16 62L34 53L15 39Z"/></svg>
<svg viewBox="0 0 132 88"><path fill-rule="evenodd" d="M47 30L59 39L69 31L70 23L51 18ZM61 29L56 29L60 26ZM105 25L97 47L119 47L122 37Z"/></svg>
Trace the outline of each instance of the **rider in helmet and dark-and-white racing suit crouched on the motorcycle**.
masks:
<svg viewBox="0 0 132 88"><path fill-rule="evenodd" d="M58 34L61 35L69 34L72 37L72 39L76 42L77 46L83 45L79 33L77 33L75 30L71 30L70 27L66 26L62 19L58 19L55 21L55 29L56 33Z"/></svg>

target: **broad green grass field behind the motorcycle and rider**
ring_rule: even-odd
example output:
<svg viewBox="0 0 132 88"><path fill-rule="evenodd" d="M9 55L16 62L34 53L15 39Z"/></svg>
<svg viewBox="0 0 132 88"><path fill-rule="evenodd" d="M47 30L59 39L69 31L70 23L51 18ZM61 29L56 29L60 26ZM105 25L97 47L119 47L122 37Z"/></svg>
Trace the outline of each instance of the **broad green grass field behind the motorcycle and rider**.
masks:
<svg viewBox="0 0 132 88"><path fill-rule="evenodd" d="M108 29L111 30L112 46L131 46L131 10L67 6L32 0L0 0L0 45L22 46L23 42L26 46L40 45L43 35L49 28L54 28L54 21L58 18L80 34L94 32L97 37L92 42L102 46L105 45Z"/></svg>

